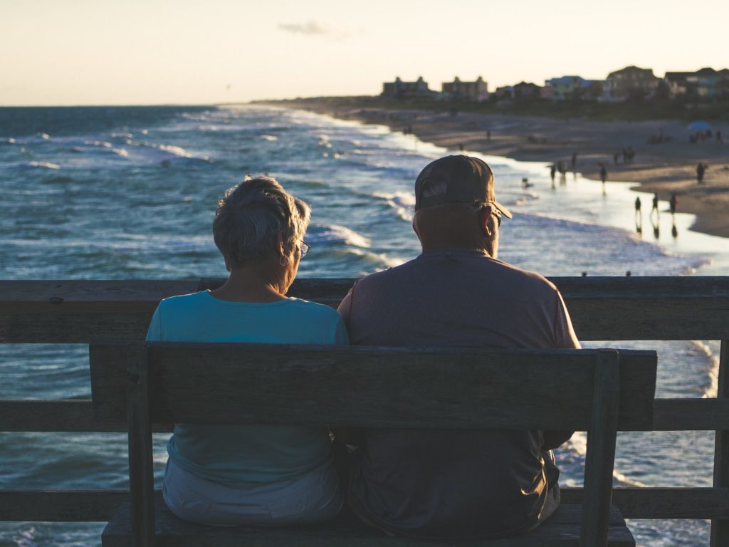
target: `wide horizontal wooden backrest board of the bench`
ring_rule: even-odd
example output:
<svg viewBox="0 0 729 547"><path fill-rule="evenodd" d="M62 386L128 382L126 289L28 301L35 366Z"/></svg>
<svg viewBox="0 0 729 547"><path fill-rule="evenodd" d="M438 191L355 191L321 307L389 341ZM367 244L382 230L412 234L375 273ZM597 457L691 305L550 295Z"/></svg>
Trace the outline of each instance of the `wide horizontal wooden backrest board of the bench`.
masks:
<svg viewBox="0 0 729 547"><path fill-rule="evenodd" d="M587 430L596 351L152 344L152 419ZM90 347L96 419L125 417L124 352ZM631 397L621 400L620 429L650 430L655 352L621 352L623 360L620 389Z"/></svg>

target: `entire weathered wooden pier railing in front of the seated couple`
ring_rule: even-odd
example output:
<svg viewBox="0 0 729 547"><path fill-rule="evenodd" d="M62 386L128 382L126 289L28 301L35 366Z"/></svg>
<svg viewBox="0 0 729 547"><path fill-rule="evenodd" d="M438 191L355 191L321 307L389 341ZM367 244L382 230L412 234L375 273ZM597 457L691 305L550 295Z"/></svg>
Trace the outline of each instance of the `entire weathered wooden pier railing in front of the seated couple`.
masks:
<svg viewBox="0 0 729 547"><path fill-rule="evenodd" d="M714 486L620 488L613 503L628 519L712 519L711 545L729 545L729 277L552 281L581 341L721 341L717 397L659 398L653 422L653 430L716 431ZM0 343L139 341L162 298L221 283L0 281ZM301 279L289 294L336 307L351 284L351 279ZM125 430L125 424L95 419L90 400L0 400L0 431ZM580 488L564 489L568 503L581 496ZM0 521L103 521L127 497L128 492L109 490L0 491Z"/></svg>

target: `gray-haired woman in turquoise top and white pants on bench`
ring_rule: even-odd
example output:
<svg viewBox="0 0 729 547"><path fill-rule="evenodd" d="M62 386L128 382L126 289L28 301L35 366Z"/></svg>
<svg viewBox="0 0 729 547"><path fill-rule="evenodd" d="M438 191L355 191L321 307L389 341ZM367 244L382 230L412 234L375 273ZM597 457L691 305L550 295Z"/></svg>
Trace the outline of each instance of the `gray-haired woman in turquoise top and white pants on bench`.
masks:
<svg viewBox="0 0 729 547"><path fill-rule="evenodd" d="M217 290L165 298L148 341L347 344L340 315L287 298L310 209L268 176L246 179L219 201L215 244L230 272ZM164 499L203 524L323 521L342 506L326 427L176 424Z"/></svg>

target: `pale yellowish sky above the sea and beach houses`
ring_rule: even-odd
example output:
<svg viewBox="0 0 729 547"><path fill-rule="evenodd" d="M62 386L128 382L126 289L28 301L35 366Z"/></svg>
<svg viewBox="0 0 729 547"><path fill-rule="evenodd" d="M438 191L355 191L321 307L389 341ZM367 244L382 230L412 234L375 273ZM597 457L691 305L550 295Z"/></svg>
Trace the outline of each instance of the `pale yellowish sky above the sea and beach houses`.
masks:
<svg viewBox="0 0 729 547"><path fill-rule="evenodd" d="M489 90L729 66L729 1L0 0L0 106Z"/></svg>

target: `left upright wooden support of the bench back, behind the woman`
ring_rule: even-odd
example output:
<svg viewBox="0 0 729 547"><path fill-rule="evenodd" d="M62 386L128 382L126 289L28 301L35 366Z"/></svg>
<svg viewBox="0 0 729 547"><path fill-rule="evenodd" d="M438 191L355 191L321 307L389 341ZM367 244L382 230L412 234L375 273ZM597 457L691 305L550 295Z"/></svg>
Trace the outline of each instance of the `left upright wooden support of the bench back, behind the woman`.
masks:
<svg viewBox="0 0 729 547"><path fill-rule="evenodd" d="M126 351L131 544L133 547L152 547L155 544L155 476L149 422L147 346L133 344Z"/></svg>

